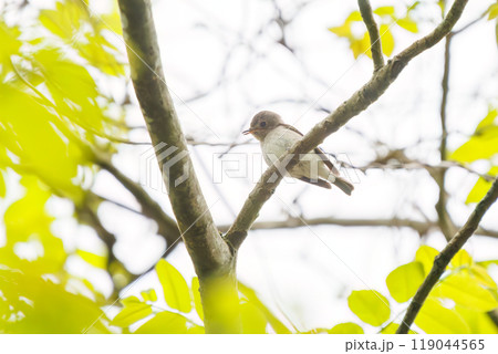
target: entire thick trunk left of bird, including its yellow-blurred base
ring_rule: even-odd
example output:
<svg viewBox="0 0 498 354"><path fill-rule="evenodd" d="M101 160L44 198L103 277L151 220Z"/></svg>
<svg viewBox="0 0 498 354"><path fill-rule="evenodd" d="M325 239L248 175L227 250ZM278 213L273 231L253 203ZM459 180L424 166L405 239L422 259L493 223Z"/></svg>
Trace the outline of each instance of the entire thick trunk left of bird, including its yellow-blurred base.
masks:
<svg viewBox="0 0 498 354"><path fill-rule="evenodd" d="M206 333L240 332L236 257L204 198L163 74L151 0L118 0L132 81L173 212L199 277Z"/></svg>

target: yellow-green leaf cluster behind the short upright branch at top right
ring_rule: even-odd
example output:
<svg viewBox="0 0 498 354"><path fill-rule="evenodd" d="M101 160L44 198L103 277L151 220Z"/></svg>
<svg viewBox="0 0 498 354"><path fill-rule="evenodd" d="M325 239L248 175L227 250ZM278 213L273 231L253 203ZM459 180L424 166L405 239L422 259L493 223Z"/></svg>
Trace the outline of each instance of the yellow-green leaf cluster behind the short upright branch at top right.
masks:
<svg viewBox="0 0 498 354"><path fill-rule="evenodd" d="M404 15L397 17L396 9L394 7L380 7L373 9L374 19L378 27L378 33L381 35L382 52L386 56L391 56L394 51L395 41L392 33L392 29L397 27L405 31L417 33L418 24L412 18L412 11L417 7L413 4L409 8L404 9ZM355 24L360 24L361 30L354 28ZM357 30L357 31L355 31ZM338 27L329 28L329 31L344 38L350 42L350 49L353 52L354 59L362 54L366 54L372 59L372 51L370 50L370 34L366 30L360 11L353 11L345 19L344 23Z"/></svg>

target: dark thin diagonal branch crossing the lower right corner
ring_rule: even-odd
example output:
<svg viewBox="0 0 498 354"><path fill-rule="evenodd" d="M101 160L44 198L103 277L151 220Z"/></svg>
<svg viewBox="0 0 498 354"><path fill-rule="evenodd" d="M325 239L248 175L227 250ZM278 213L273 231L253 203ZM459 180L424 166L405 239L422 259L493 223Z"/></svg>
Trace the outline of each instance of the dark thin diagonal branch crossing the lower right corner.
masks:
<svg viewBox="0 0 498 354"><path fill-rule="evenodd" d="M458 230L458 232L452 238L448 244L446 244L443 251L440 251L440 253L434 260L433 268L430 269L427 278L422 283L421 288L418 288L415 296L409 303L408 310L406 310L405 317L403 319L400 327L396 331L397 334L408 333L409 326L415 321L415 317L417 316L418 311L424 304L424 301L427 299L434 285L436 285L449 261L461 249L465 242L467 242L467 240L474 235L477 227L479 226L480 220L483 219L483 216L496 201L497 198L498 178L495 179L495 183L491 185L491 188L488 190L487 195L476 206L476 209L474 209L464 227Z"/></svg>

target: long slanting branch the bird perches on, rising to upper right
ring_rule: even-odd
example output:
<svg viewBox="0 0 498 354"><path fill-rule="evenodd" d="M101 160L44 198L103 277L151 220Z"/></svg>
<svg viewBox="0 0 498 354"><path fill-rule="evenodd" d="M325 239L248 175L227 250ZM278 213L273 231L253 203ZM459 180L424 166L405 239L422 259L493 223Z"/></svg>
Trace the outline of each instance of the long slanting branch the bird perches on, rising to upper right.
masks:
<svg viewBox="0 0 498 354"><path fill-rule="evenodd" d="M299 154L310 152L321 144L329 135L336 132L341 126L347 123L352 117L369 107L375 102L387 87L400 75L408 62L423 51L432 48L449 33L457 20L460 18L468 0L455 0L443 22L426 37L415 41L403 52L388 61L381 70L374 72L372 79L359 91L356 91L347 101L342 103L325 119L317 124L299 143L289 152L292 156L286 168L291 169L299 160ZM271 197L280 183L282 176L277 175L279 164L288 158L283 156L278 164L269 167L256 187L250 192L242 209L237 216L226 238L237 249L247 237L247 232L258 217L259 210ZM271 178L271 179L270 179Z"/></svg>

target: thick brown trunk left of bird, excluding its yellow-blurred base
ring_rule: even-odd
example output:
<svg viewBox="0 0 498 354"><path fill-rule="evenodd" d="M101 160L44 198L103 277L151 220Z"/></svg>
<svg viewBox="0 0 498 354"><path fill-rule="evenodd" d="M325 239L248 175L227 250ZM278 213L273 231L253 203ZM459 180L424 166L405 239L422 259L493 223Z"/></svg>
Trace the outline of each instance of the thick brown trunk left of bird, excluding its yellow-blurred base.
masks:
<svg viewBox="0 0 498 354"><path fill-rule="evenodd" d="M231 262L228 244L219 236L200 190L172 97L165 83L151 1L120 0L132 80L159 169L169 190L178 227L197 273L210 273ZM164 156L167 155L167 156ZM184 176L187 178L176 185ZM176 186L175 186L176 185Z"/></svg>

